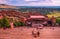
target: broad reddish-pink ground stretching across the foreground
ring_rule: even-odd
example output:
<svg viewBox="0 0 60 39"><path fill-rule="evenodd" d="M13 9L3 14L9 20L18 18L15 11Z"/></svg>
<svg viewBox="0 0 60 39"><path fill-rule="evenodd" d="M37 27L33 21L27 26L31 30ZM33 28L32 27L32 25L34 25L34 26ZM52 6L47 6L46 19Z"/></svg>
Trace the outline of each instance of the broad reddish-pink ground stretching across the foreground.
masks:
<svg viewBox="0 0 60 39"><path fill-rule="evenodd" d="M35 29L35 28L34 28ZM44 27L40 37L34 38L31 34L33 28L0 29L0 39L60 39L60 27Z"/></svg>

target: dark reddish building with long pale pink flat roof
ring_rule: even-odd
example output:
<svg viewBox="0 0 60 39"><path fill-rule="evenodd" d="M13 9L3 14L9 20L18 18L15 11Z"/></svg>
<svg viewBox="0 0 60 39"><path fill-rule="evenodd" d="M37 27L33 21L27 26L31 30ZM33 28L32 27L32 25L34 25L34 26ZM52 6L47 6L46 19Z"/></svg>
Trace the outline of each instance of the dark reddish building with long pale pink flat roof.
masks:
<svg viewBox="0 0 60 39"><path fill-rule="evenodd" d="M42 24L45 21L45 16L43 15L30 15L30 17L26 20L26 25L35 26Z"/></svg>

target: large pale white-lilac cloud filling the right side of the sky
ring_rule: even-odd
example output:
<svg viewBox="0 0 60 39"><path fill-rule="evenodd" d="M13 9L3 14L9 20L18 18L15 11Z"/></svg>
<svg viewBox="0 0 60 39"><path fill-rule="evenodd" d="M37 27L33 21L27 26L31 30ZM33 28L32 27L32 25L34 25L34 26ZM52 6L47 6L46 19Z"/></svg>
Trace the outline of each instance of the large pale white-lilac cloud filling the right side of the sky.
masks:
<svg viewBox="0 0 60 39"><path fill-rule="evenodd" d="M22 6L60 6L60 0L44 0L39 2L30 2L21 4Z"/></svg>

